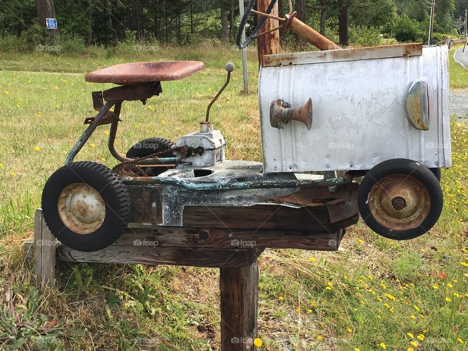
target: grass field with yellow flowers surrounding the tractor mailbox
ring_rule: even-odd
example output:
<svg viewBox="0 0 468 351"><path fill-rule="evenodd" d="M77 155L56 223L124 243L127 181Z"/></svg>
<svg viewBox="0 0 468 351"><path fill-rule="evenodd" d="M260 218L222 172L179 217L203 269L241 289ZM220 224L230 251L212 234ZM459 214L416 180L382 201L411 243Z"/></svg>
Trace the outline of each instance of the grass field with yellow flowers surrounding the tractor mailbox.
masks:
<svg viewBox="0 0 468 351"><path fill-rule="evenodd" d="M212 108L228 139L228 157L260 161L255 53L249 94L242 74ZM101 59L0 54L0 350L218 350L215 269L59 264L58 288L39 292L22 250L47 177L63 164L94 115L84 72L127 60L199 59L207 68L163 83L146 106L125 103L117 147L146 137L195 131L223 84L227 48L161 49L156 57ZM453 88L467 85L459 67ZM47 71L33 73L29 71ZM442 172L445 205L438 224L397 242L361 222L334 253L267 250L260 258L260 350L467 350L468 126L452 118L453 167ZM78 159L112 167L108 126Z"/></svg>

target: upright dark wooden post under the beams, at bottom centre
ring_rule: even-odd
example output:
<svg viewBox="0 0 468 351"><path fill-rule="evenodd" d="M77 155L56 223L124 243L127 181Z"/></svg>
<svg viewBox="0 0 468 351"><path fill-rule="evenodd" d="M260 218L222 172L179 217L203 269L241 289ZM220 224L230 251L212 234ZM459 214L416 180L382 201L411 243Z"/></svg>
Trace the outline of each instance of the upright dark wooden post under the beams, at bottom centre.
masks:
<svg viewBox="0 0 468 351"><path fill-rule="evenodd" d="M221 350L254 351L257 337L258 261L220 268Z"/></svg>

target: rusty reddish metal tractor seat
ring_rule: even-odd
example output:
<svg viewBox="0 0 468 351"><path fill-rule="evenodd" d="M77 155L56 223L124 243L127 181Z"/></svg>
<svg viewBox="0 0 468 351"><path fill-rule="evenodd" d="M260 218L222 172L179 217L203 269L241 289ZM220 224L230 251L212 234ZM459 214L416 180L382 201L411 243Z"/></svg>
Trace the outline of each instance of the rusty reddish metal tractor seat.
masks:
<svg viewBox="0 0 468 351"><path fill-rule="evenodd" d="M90 72L85 80L93 83L139 85L150 82L178 80L205 68L200 61L159 61L121 63Z"/></svg>

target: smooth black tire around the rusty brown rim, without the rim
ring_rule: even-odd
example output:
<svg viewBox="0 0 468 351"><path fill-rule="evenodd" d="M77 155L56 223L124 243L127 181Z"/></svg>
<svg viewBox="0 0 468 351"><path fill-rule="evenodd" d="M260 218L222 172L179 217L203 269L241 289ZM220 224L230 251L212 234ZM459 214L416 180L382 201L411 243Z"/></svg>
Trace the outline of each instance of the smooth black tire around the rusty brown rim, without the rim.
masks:
<svg viewBox="0 0 468 351"><path fill-rule="evenodd" d="M369 194L372 187L386 176L408 175L419 180L428 190L430 199L429 214L415 228L409 230L395 231L381 225L372 215L369 208ZM431 229L439 219L444 204L444 196L440 183L434 174L422 164L405 159L395 158L379 163L364 176L358 191L359 213L364 222L375 233L389 239L407 240L420 236Z"/></svg>

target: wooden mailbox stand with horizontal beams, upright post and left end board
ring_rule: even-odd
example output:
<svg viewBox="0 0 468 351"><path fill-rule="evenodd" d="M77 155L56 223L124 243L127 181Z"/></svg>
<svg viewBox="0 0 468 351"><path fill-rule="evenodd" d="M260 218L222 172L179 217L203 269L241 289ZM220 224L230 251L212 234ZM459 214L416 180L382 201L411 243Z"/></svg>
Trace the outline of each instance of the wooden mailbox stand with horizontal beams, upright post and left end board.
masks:
<svg viewBox="0 0 468 351"><path fill-rule="evenodd" d="M256 212L252 208L235 210L235 215ZM285 220L284 215L272 218ZM229 218L226 220L229 223ZM350 218L339 225L351 225L355 220ZM56 260L217 267L220 272L221 350L253 351L256 350L253 342L257 335L258 256L266 247L337 250L344 230L320 232L318 228L285 231L220 228L219 224L213 228L140 226L129 228L115 244L103 250L79 252L56 241L39 209L35 215L34 240L26 242L26 249L28 253L34 253L39 285L51 288L55 285ZM157 242L157 245L144 246L145 242ZM239 248L233 243L251 246Z"/></svg>

